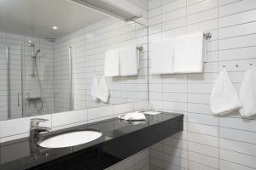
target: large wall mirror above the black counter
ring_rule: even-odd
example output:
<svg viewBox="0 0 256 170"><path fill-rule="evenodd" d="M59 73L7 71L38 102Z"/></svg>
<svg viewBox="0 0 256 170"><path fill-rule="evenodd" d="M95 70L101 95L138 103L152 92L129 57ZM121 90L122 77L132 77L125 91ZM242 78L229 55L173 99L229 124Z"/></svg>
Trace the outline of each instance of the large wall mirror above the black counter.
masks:
<svg viewBox="0 0 256 170"><path fill-rule="evenodd" d="M0 121L148 99L147 11L115 2L0 0ZM137 76L107 77L108 102L94 100L106 51L131 45Z"/></svg>

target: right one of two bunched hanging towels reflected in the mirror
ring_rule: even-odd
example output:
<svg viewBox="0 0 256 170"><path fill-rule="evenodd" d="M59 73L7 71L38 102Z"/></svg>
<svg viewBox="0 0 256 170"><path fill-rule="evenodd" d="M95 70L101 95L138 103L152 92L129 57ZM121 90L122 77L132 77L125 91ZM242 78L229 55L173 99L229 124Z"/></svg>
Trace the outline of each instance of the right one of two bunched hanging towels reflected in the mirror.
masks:
<svg viewBox="0 0 256 170"><path fill-rule="evenodd" d="M108 102L109 89L106 77L101 77L99 80L98 88L96 89L96 98L101 99L103 102Z"/></svg>

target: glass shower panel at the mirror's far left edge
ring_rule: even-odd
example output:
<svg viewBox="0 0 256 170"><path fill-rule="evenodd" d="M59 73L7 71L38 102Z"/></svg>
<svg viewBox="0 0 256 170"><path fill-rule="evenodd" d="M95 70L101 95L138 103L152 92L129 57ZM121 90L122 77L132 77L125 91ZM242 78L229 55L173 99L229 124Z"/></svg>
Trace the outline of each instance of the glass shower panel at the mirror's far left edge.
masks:
<svg viewBox="0 0 256 170"><path fill-rule="evenodd" d="M0 120L22 117L21 41L19 36L5 34L4 37L0 37L0 75Z"/></svg>

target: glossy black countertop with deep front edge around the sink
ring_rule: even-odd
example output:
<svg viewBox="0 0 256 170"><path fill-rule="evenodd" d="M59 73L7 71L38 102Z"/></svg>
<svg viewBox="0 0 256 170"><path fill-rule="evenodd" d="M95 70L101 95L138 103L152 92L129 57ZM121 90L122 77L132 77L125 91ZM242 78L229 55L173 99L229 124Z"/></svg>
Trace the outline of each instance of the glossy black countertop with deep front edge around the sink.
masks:
<svg viewBox="0 0 256 170"><path fill-rule="evenodd" d="M102 132L102 137L87 144L58 149L39 147L29 138L5 142L0 145L0 169L102 170L182 131L183 115L163 112L146 115L143 122L112 118L63 129L52 135L74 129L95 129Z"/></svg>

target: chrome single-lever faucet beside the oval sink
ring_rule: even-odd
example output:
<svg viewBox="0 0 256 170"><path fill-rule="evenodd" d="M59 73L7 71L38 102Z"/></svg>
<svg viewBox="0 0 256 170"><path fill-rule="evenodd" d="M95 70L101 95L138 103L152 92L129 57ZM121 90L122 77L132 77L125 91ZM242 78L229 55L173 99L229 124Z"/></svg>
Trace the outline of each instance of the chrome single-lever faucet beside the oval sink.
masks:
<svg viewBox="0 0 256 170"><path fill-rule="evenodd" d="M43 132L48 132L50 128L49 127L39 127L40 122L47 122L49 121L48 119L40 119L40 118L35 118L31 119L31 126L30 126L30 137L32 139L38 138L38 135Z"/></svg>

